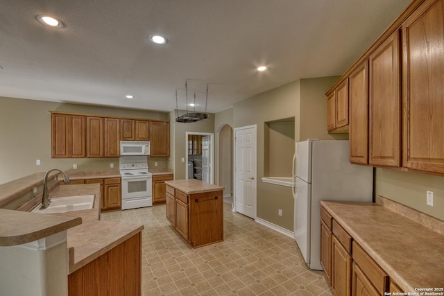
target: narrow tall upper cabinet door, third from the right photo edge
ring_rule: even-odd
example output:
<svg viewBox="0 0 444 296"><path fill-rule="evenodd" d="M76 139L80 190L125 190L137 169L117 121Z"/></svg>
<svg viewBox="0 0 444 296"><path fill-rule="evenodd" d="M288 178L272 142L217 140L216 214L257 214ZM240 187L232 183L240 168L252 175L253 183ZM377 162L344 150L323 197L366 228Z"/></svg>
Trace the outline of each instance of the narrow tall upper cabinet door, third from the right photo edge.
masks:
<svg viewBox="0 0 444 296"><path fill-rule="evenodd" d="M367 61L349 77L350 162L368 164L368 71Z"/></svg>

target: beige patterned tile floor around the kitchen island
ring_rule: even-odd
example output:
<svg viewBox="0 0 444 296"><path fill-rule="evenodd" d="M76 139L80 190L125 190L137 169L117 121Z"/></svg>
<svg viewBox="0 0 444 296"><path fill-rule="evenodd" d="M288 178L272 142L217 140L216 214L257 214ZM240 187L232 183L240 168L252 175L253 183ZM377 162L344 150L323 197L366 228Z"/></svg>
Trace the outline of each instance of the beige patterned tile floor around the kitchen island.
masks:
<svg viewBox="0 0 444 296"><path fill-rule="evenodd" d="M324 272L307 268L296 242L224 203L224 241L193 249L165 218L165 206L102 214L143 224L142 295L322 295Z"/></svg>

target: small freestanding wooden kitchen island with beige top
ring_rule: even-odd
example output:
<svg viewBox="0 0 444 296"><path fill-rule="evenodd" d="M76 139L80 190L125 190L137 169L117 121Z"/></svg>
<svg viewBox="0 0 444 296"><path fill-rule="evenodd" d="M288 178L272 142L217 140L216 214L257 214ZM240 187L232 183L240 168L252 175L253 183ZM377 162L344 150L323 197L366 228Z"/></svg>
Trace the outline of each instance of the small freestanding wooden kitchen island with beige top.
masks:
<svg viewBox="0 0 444 296"><path fill-rule="evenodd" d="M166 181L167 220L192 247L223 241L223 187L196 179Z"/></svg>

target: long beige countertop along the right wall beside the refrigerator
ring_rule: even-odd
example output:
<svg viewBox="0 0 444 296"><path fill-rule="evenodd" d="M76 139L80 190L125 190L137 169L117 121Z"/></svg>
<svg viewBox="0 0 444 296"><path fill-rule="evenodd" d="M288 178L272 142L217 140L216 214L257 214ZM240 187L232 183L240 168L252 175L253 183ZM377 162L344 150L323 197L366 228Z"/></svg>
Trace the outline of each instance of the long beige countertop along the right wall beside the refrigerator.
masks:
<svg viewBox="0 0 444 296"><path fill-rule="evenodd" d="M404 292L444 287L444 236L375 203L321 204Z"/></svg>

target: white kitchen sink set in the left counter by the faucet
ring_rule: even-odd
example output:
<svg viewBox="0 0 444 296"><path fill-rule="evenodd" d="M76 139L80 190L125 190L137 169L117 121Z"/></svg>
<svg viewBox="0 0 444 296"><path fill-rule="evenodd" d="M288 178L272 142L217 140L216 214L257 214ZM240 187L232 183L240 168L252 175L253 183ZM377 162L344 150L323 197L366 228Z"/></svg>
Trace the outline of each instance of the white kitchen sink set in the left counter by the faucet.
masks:
<svg viewBox="0 0 444 296"><path fill-rule="evenodd" d="M67 196L66 198L51 198L51 204L46 209L40 209L42 203L40 202L32 213L53 214L65 213L67 211L81 211L85 209L92 209L94 207L94 195L76 195Z"/></svg>

